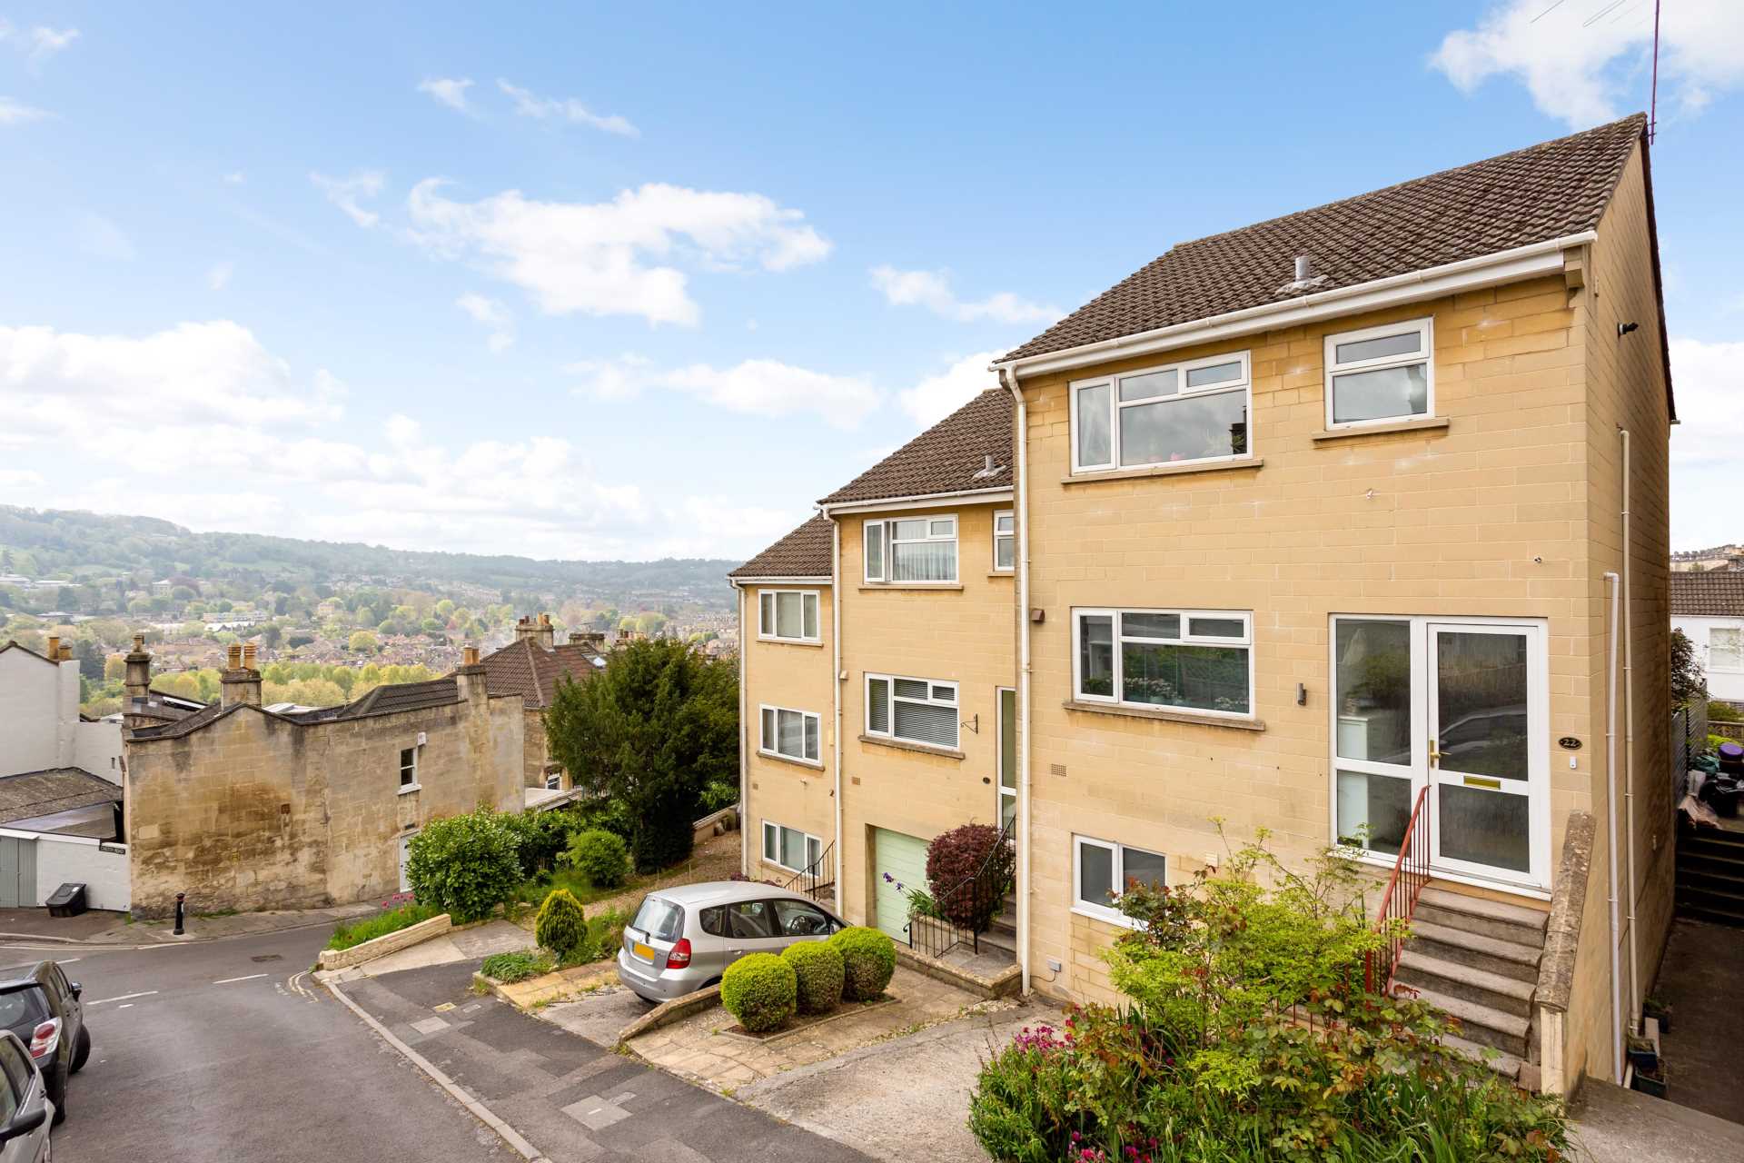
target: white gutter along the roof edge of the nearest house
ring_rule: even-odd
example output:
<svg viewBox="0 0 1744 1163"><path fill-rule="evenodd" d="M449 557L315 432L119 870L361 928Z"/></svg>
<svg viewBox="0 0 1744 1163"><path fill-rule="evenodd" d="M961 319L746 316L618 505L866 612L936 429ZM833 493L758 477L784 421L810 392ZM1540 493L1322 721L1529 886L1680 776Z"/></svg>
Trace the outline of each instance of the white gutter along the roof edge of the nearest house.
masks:
<svg viewBox="0 0 1744 1163"><path fill-rule="evenodd" d="M1243 307L1221 316L1207 316L1191 323L1177 323L1167 328L1120 335L1095 343L1081 343L1057 352L1041 352L994 363L994 371L1015 375L1041 375L1045 371L1064 371L1083 368L1120 356L1142 356L1149 352L1188 347L1233 335L1266 331L1271 328L1294 326L1311 319L1345 316L1357 310L1373 310L1395 303L1411 303L1425 298L1441 298L1460 291L1470 291L1498 282L1512 282L1540 274L1552 274L1563 269L1563 251L1598 241L1594 230L1582 230L1547 242L1516 246L1495 255L1463 258L1456 263L1425 267L1386 279L1357 282L1315 295L1301 295L1277 303Z"/></svg>

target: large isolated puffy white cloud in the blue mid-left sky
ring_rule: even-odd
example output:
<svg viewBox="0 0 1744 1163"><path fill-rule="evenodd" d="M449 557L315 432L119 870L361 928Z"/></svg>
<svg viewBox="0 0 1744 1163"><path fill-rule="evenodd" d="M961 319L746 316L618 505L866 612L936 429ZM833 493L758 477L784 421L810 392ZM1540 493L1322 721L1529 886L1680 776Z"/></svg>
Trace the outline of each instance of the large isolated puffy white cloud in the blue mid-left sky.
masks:
<svg viewBox="0 0 1744 1163"><path fill-rule="evenodd" d="M535 202L520 190L459 202L443 185L427 178L412 188L412 237L448 258L483 260L553 316L694 324L701 312L673 260L787 270L830 253L800 211L760 194L651 183L610 202Z"/></svg>

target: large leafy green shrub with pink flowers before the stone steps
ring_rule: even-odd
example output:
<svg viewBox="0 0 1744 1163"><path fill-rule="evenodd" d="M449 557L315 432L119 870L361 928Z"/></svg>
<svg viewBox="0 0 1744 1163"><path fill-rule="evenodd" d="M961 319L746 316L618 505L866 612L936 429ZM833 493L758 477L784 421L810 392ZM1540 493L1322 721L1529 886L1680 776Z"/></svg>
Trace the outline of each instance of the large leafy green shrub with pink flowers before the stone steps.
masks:
<svg viewBox="0 0 1744 1163"><path fill-rule="evenodd" d="M1268 881L1273 888L1259 886ZM1355 865L1259 842L1216 875L1134 888L1106 952L1128 1006L1069 1011L991 1058L970 1128L996 1160L1561 1158L1554 1098L1442 1046L1437 1010L1364 990L1381 947Z"/></svg>

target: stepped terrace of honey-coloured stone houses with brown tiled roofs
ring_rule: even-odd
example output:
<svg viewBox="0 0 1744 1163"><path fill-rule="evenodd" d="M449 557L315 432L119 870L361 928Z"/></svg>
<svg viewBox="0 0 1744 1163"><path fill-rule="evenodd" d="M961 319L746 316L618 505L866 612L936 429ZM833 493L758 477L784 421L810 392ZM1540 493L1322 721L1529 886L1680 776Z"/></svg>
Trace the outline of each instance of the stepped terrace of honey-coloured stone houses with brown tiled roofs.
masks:
<svg viewBox="0 0 1744 1163"><path fill-rule="evenodd" d="M1615 1078L1674 844L1645 119L1179 244L994 370L732 575L746 870L909 940L926 840L1010 821L1022 987L1104 999L1212 818L1376 898L1409 828L1397 980Z"/></svg>

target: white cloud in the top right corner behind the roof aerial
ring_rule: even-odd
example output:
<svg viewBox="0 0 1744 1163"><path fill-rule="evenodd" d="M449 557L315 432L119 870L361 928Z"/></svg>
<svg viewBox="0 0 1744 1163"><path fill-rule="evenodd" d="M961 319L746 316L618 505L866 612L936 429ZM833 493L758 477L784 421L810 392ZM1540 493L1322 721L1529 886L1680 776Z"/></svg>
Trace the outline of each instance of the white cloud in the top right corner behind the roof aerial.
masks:
<svg viewBox="0 0 1744 1163"><path fill-rule="evenodd" d="M1611 120L1618 103L1645 106L1653 5L1503 0L1430 56L1461 92L1491 77L1526 85L1533 105L1575 129ZM1744 19L1737 0L1681 0L1660 21L1660 85L1685 112L1744 84Z"/></svg>

